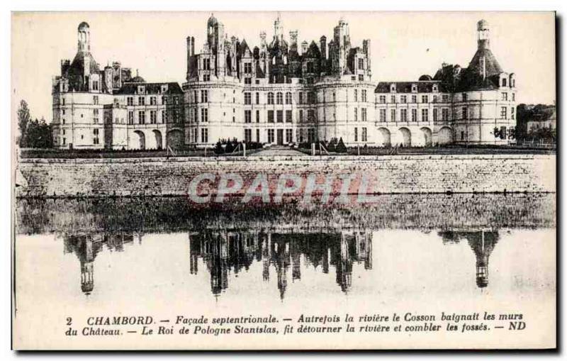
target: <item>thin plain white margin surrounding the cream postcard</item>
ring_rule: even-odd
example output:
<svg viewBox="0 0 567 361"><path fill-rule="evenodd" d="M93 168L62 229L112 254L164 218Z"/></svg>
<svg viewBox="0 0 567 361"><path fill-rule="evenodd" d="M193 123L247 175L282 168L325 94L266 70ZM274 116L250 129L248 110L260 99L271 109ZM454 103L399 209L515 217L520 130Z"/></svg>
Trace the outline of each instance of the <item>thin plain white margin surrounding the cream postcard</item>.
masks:
<svg viewBox="0 0 567 361"><path fill-rule="evenodd" d="M10 351L11 345L11 311L10 311L10 300L11 300L11 277L10 277L10 265L11 265L11 252L10 252L10 239L11 239L11 209L10 209L10 199L11 199L11 184L10 184L10 159L11 159L11 130L10 130L10 120L11 120L11 11L127 11L127 10L140 10L140 11L335 11L335 10L349 10L349 11L557 11L558 21L561 25L558 28L558 33L556 36L559 39L558 48L556 49L559 59L561 59L561 50L566 46L566 38L563 34L563 29L565 26L565 14L567 13L567 1L552 1L552 0L538 0L538 1L505 1L505 0L476 0L476 1L449 1L449 0L438 0L438 1L410 1L410 0L395 0L395 1L339 1L339 0L325 0L320 2L305 1L305 0L286 0L286 1L220 1L220 0L207 0L207 1L174 1L174 0L136 0L136 1L116 1L116 0L96 0L96 1L77 1L77 0L52 0L52 1L40 1L40 0L19 0L7 2L2 2L0 4L0 49L2 56L0 57L0 161L2 163L2 173L0 177L0 230L4 233L3 247L1 248L1 262L2 274L0 277L0 355L2 360L12 360L18 357L15 352ZM561 64L556 65L561 68ZM566 99L566 95L561 91L561 84L564 84L563 80L565 78L565 72L561 71L561 79L558 79L558 95L561 99L558 99L557 104L560 105L559 108L559 124L563 123L563 104ZM560 134L561 138L559 140L560 144L563 144L563 136ZM563 146L561 146L563 148ZM561 167L559 170L565 169L567 158L563 155L561 158ZM563 177L561 177L563 178ZM561 194L561 206L558 209L564 209L565 197ZM567 216L565 213L560 214L561 219L558 220L558 224L567 225ZM563 240L559 240L561 243L561 260L566 259L566 249L567 245ZM561 262L560 262L561 264ZM561 267L560 279L561 284L558 284L559 289L563 290L565 286L565 266ZM561 292L563 293L563 292ZM566 310L561 310L561 315L564 315ZM564 324L564 317L562 320L558 319L559 325ZM566 347L566 336L565 332L560 332L561 340L559 345L563 348ZM20 357L22 355L19 355ZM24 357L26 355L23 355ZM43 355L53 360L57 360L62 355ZM118 357L125 356L123 354L96 354L91 355L91 357L104 357L105 360L114 360ZM169 355L171 356L171 355ZM217 357L227 357L226 354L221 355L206 355L206 354L192 354L192 355L179 355L174 356L180 357L191 357L193 358L217 358ZM233 355L231 355L233 356ZM312 355L314 357L329 357L329 355ZM360 356L360 355L359 355ZM415 354L407 355L378 355L381 358L395 358L395 360L405 360L410 357L415 356ZM539 357L541 355L529 354L527 357L522 357L523 360L532 359ZM64 356L63 356L64 357ZM71 357L81 357L80 355L72 355ZM142 355L128 355L128 357L166 357L164 355L157 354L142 354ZM274 357L274 355L268 354L253 354L245 355L240 354L239 357ZM293 354L293 357L305 357L302 354ZM349 357L345 354L335 355L335 357ZM425 355L427 358L437 358L439 355ZM442 357L454 357L454 355L442 355ZM476 355L476 357L485 357L484 354ZM511 354L500 354L497 357L503 359L512 359L512 357L517 357L517 355Z"/></svg>

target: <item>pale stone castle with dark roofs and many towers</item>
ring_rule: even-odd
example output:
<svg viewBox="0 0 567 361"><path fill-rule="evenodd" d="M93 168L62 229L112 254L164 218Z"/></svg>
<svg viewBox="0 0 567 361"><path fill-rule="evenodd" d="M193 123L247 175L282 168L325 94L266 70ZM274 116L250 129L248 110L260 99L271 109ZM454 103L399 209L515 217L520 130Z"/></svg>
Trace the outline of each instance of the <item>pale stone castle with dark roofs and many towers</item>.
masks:
<svg viewBox="0 0 567 361"><path fill-rule="evenodd" d="M182 149L221 139L286 145L342 138L347 146L503 145L512 140L515 74L490 51L478 21L478 48L468 67L443 64L417 81L373 82L371 44L352 45L341 19L332 39L298 43L280 16L259 46L228 38L214 16L196 52L186 38L186 82L147 83L113 62L102 70L90 28L78 28L78 50L62 61L52 89L56 148Z"/></svg>

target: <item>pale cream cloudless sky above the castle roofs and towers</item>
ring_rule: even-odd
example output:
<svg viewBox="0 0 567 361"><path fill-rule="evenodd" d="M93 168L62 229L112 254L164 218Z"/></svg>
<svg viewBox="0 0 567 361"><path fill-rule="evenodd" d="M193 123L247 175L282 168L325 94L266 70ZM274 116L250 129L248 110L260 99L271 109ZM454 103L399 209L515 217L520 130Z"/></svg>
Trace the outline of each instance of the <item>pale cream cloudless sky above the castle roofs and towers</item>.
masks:
<svg viewBox="0 0 567 361"><path fill-rule="evenodd" d="M275 12L215 12L229 38L259 45L259 33L274 34ZM206 12L13 13L12 114L25 99L33 118L51 121L52 78L62 59L77 53L77 26L91 28L91 53L101 67L120 61L147 82L185 81L186 37L196 52L206 42ZM434 75L442 62L466 67L476 51L476 22L490 24L490 48L505 72L516 74L517 101L553 104L556 99L555 22L551 12L282 12L286 39L298 43L321 35L332 39L339 18L349 23L352 46L371 40L374 82L417 80Z"/></svg>

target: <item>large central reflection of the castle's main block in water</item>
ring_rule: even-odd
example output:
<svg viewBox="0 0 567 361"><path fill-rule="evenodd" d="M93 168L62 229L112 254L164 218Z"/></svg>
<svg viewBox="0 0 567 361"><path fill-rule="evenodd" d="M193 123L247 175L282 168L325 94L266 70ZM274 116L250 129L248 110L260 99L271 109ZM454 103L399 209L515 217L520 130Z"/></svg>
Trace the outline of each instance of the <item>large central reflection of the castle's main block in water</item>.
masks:
<svg viewBox="0 0 567 361"><path fill-rule="evenodd" d="M269 281L271 269L277 277L281 299L291 279L301 279L301 258L323 273L335 267L336 282L346 292L352 284L353 262L372 268L372 233L265 233L206 231L191 236L191 274L198 272L202 257L210 273L210 290L218 295L228 288L228 274L248 270L252 262L262 262L262 276Z"/></svg>

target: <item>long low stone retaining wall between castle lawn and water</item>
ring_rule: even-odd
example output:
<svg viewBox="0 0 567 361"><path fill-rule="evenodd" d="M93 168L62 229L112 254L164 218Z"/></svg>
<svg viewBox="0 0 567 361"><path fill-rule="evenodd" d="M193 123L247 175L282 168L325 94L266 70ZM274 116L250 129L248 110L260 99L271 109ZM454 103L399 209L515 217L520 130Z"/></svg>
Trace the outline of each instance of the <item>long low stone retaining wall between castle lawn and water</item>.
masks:
<svg viewBox="0 0 567 361"><path fill-rule="evenodd" d="M16 170L16 196L186 195L203 173L215 175L213 182L201 182L204 194L216 194L220 174L227 173L242 177L240 195L258 174L265 174L271 194L281 174L303 179L296 195L311 174L318 183L330 176L333 193L341 189L339 177L349 174L349 194L363 188L369 194L554 192L555 167L555 155L26 159Z"/></svg>

